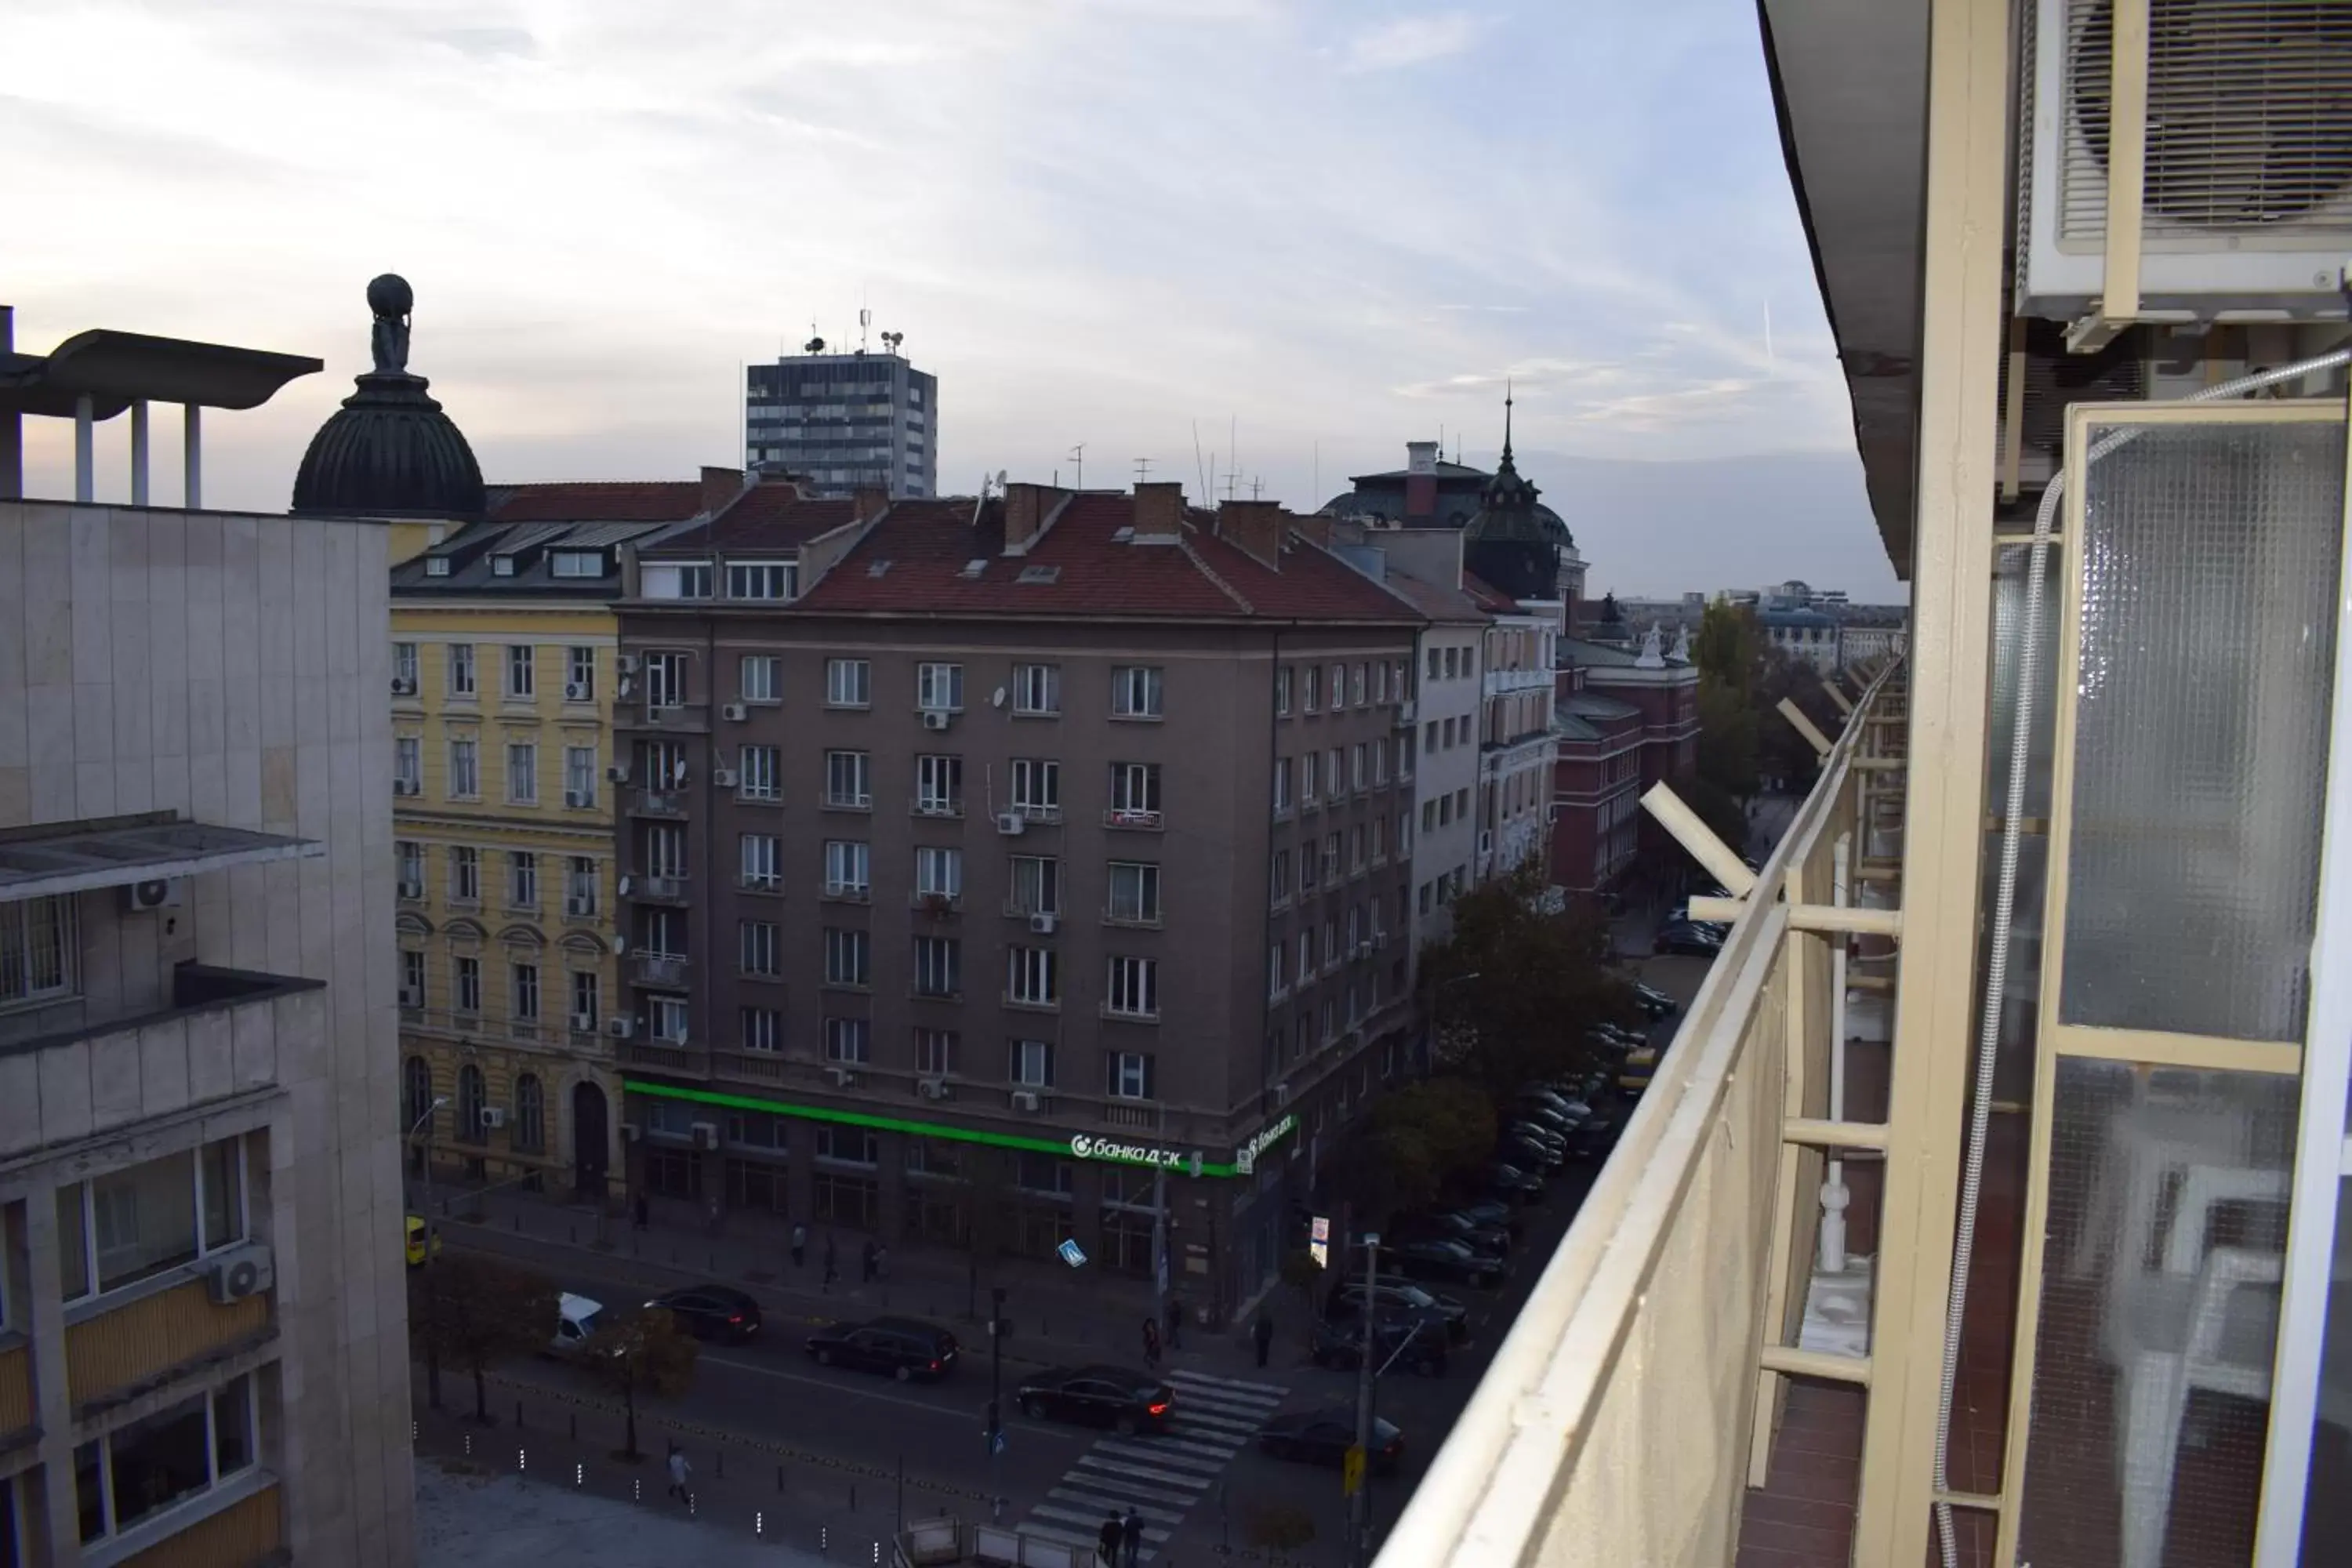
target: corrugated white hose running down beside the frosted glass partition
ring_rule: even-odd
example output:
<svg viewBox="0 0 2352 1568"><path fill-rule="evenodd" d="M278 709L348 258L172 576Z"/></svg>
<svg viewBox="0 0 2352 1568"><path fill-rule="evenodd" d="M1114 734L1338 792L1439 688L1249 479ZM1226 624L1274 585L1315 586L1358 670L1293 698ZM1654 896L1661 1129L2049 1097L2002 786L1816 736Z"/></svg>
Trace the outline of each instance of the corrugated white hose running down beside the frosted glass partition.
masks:
<svg viewBox="0 0 2352 1568"><path fill-rule="evenodd" d="M2185 402L2220 402L2244 397L2281 381L2303 381L2319 371L2352 362L2352 348L2336 348L2310 360L2253 371L2234 381L2204 388ZM2100 461L2117 447L2138 440L2140 428L2114 430L2084 454L2084 465ZM2042 491L2034 510L2034 538L2025 555L2025 618L2018 628L2018 698L2009 726L2009 799L2002 809L2002 875L1992 896L1992 952L1985 957L1985 1011L1976 1032L1976 1103L1969 1107L1969 1164L1959 1182L1959 1234L1952 1241L1952 1295L1943 1312L1943 1387L1936 1399L1936 1490L1950 1493L1952 1481L1945 1469L1952 1443L1952 1396L1959 1380L1959 1321L1969 1307L1969 1260L1976 1253L1976 1208L1985 1190L1985 1135L1992 1124L1992 1067L2002 1039L2002 992L2009 987L2009 922L2018 898L2018 842L2025 835L2025 752L2034 726L2034 679L2039 675L2042 642L2042 585L2049 581L2051 536L2058 524L2058 503L2065 496L2065 470ZM1959 1544L1952 1537L1952 1505L1936 1505L1936 1540L1943 1547L1943 1568L1959 1568Z"/></svg>

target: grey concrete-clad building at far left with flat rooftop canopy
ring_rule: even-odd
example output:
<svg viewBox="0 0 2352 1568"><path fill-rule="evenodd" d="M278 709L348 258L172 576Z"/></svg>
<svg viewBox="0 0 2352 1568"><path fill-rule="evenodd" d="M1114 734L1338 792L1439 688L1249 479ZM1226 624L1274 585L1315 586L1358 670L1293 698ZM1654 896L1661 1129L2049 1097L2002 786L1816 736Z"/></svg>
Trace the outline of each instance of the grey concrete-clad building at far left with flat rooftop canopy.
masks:
<svg viewBox="0 0 2352 1568"><path fill-rule="evenodd" d="M200 409L315 369L85 331L0 376L0 494L19 416L85 435L80 501L0 498L0 1561L414 1561L386 534L195 505Z"/></svg>

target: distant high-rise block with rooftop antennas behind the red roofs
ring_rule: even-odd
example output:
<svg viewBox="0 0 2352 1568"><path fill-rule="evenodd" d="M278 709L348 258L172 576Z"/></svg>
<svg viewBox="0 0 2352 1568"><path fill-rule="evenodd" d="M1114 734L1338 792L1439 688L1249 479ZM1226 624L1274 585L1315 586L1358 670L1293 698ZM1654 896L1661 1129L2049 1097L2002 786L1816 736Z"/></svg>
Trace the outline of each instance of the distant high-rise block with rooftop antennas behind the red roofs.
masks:
<svg viewBox="0 0 2352 1568"><path fill-rule="evenodd" d="M788 470L816 496L936 496L938 376L896 353L863 350L753 364L743 376L743 461Z"/></svg>

